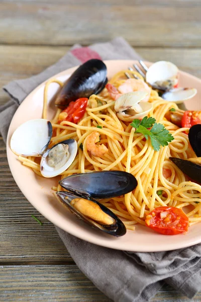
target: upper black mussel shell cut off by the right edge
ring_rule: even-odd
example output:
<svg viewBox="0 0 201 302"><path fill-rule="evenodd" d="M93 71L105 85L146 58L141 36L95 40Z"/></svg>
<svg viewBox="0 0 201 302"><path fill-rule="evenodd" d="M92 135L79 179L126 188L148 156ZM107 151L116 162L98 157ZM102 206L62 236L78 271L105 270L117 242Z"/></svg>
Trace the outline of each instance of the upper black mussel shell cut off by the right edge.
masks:
<svg viewBox="0 0 201 302"><path fill-rule="evenodd" d="M201 125L197 124L189 129L188 139L194 153L201 157Z"/></svg>

